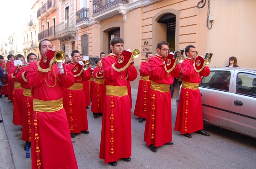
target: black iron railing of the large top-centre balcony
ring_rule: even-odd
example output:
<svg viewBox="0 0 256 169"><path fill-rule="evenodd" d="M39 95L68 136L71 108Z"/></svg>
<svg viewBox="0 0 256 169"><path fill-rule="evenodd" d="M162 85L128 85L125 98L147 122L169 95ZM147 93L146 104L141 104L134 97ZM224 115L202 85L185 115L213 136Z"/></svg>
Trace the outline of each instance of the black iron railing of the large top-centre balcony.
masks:
<svg viewBox="0 0 256 169"><path fill-rule="evenodd" d="M93 0L93 15L118 4L128 4L129 0Z"/></svg>

